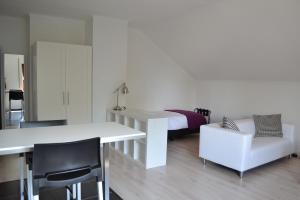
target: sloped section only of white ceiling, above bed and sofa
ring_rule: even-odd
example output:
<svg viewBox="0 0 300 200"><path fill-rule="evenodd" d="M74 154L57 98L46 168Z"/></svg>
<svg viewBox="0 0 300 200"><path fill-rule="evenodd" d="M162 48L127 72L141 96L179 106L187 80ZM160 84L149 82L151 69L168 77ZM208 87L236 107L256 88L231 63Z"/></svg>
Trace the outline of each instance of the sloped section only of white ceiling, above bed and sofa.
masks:
<svg viewBox="0 0 300 200"><path fill-rule="evenodd" d="M300 80L300 1L215 1L140 27L199 80Z"/></svg>

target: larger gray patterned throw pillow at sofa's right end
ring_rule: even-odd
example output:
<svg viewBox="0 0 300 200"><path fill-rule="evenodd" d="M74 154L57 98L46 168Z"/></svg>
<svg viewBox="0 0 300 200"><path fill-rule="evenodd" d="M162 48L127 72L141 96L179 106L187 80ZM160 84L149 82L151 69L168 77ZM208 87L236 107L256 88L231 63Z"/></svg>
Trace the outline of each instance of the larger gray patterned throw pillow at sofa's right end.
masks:
<svg viewBox="0 0 300 200"><path fill-rule="evenodd" d="M255 137L283 137L281 114L253 115Z"/></svg>

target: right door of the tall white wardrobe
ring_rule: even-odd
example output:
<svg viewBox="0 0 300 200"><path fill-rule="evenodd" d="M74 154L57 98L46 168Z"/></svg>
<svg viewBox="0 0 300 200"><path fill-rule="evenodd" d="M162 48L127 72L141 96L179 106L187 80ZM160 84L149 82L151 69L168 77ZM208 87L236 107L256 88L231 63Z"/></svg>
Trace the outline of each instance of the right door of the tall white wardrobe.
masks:
<svg viewBox="0 0 300 200"><path fill-rule="evenodd" d="M69 124L91 122L92 48L68 45L66 65Z"/></svg>

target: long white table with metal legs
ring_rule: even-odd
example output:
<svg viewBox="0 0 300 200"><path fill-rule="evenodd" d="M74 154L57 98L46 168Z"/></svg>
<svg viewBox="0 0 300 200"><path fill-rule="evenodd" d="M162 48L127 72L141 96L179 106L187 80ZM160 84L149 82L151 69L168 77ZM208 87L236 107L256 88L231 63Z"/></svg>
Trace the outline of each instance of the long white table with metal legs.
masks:
<svg viewBox="0 0 300 200"><path fill-rule="evenodd" d="M0 156L31 152L34 144L38 143L72 142L100 137L103 144L104 199L109 200L109 143L135 140L145 136L144 132L113 122L6 129L0 130Z"/></svg>

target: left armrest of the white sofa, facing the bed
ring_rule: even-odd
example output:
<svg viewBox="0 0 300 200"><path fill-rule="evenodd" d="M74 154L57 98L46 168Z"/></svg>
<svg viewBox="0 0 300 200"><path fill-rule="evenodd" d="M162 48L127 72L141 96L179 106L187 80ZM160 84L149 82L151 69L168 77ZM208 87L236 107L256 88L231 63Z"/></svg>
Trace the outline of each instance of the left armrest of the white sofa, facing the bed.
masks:
<svg viewBox="0 0 300 200"><path fill-rule="evenodd" d="M249 155L250 133L204 125L200 127L199 157L243 171Z"/></svg>

